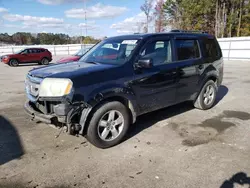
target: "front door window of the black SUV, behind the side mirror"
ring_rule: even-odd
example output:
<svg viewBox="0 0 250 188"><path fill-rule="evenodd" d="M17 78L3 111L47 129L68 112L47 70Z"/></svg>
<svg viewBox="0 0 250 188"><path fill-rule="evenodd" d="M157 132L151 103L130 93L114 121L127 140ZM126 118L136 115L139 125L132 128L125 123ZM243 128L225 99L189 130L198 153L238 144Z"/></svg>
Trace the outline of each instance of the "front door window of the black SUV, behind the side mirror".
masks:
<svg viewBox="0 0 250 188"><path fill-rule="evenodd" d="M155 66L172 62L170 40L152 41L140 53L141 59L152 59Z"/></svg>

